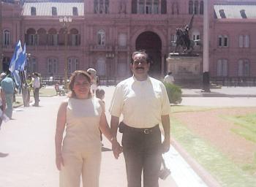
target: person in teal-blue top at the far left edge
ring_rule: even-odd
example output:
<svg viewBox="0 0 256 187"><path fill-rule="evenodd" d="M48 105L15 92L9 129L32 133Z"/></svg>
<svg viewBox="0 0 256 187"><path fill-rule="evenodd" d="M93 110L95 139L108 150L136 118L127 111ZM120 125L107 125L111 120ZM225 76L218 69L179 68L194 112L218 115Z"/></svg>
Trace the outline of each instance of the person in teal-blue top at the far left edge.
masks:
<svg viewBox="0 0 256 187"><path fill-rule="evenodd" d="M4 91L4 96L6 99L7 108L5 110L6 115L12 119L12 102L13 94L15 92L15 84L12 81L12 78L8 77L6 73L1 73L1 89Z"/></svg>

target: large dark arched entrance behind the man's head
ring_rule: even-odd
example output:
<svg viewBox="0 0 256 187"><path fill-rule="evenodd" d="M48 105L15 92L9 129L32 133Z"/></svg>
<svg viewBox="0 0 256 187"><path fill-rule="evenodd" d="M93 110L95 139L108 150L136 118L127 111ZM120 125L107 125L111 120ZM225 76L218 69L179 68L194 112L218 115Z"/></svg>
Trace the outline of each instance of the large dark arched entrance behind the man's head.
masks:
<svg viewBox="0 0 256 187"><path fill-rule="evenodd" d="M159 77L161 75L161 49L162 41L160 37L151 31L141 33L136 39L136 50L146 50L151 59L149 75Z"/></svg>

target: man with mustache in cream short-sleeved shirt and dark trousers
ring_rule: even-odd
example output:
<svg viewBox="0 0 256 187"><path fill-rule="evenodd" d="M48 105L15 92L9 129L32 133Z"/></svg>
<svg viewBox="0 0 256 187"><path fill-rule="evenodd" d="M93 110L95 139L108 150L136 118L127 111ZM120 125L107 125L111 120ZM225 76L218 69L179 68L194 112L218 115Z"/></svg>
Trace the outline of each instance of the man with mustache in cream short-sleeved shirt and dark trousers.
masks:
<svg viewBox="0 0 256 187"><path fill-rule="evenodd" d="M110 104L114 155L118 158L121 152L116 133L122 114L119 131L123 133L128 187L141 186L142 171L143 186L158 187L161 154L170 148L170 102L165 85L148 76L148 55L138 51L132 54L132 59L133 76L118 83ZM165 131L163 142L160 123Z"/></svg>

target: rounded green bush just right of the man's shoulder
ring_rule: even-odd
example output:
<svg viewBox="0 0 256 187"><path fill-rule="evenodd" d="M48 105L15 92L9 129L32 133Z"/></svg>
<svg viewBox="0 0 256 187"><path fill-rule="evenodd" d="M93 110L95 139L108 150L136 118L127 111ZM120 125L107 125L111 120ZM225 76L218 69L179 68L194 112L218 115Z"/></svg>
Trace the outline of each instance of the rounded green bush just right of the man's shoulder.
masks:
<svg viewBox="0 0 256 187"><path fill-rule="evenodd" d="M181 87L178 85L164 83L170 103L178 104L181 103Z"/></svg>

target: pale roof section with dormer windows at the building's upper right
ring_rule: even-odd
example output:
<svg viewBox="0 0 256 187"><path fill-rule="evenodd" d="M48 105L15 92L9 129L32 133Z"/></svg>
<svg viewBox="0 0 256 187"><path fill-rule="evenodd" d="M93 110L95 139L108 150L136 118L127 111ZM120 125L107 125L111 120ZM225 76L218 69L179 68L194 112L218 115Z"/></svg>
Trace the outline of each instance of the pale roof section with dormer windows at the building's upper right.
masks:
<svg viewBox="0 0 256 187"><path fill-rule="evenodd" d="M244 11L243 11L244 10ZM215 4L217 19L222 18L256 18L256 4Z"/></svg>

